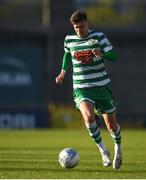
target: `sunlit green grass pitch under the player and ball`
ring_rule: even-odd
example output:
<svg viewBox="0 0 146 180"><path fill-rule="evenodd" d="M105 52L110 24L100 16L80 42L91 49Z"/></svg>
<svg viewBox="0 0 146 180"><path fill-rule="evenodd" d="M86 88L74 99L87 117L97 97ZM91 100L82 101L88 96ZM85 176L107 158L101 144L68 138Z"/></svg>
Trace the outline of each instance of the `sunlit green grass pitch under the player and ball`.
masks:
<svg viewBox="0 0 146 180"><path fill-rule="evenodd" d="M113 158L113 142L102 137ZM146 178L146 130L123 130L123 166L103 167L97 146L85 129L0 130L1 179L141 179ZM73 147L80 162L73 169L58 163L59 152Z"/></svg>

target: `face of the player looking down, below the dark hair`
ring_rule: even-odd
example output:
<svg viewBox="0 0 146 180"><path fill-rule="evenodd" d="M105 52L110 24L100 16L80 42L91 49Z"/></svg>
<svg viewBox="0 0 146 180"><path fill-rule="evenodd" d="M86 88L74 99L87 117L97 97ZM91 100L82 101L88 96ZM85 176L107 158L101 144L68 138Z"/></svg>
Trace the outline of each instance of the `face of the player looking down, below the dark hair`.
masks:
<svg viewBox="0 0 146 180"><path fill-rule="evenodd" d="M87 21L80 21L78 23L73 23L73 28L79 37L85 37L88 35L88 22Z"/></svg>

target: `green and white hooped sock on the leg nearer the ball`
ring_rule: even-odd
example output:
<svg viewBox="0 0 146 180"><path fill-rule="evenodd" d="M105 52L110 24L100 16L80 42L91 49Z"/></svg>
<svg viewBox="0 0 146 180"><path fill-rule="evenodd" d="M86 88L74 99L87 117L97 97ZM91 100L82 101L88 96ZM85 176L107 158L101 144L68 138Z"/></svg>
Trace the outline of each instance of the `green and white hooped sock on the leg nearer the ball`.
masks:
<svg viewBox="0 0 146 180"><path fill-rule="evenodd" d="M94 121L92 123L85 123L85 125L89 132L89 135L92 137L92 139L95 141L96 145L98 146L99 151L100 152L107 151L107 149L102 141L102 138L100 136L100 129L97 126L97 123Z"/></svg>

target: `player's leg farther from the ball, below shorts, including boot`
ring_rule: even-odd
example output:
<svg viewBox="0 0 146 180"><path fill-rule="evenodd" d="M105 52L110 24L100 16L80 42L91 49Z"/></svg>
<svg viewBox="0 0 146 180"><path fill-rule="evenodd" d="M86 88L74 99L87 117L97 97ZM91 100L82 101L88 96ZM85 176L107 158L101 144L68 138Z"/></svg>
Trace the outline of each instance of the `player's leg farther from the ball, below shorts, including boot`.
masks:
<svg viewBox="0 0 146 180"><path fill-rule="evenodd" d="M122 165L121 128L116 120L115 113L103 114L107 129L114 141L113 169L119 169Z"/></svg>

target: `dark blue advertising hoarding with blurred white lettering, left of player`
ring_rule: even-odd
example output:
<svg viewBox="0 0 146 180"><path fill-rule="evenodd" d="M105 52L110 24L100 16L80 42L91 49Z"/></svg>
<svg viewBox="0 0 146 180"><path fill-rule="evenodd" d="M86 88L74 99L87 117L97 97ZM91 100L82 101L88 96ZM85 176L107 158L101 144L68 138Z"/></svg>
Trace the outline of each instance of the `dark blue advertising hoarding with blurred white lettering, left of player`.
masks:
<svg viewBox="0 0 146 180"><path fill-rule="evenodd" d="M41 44L0 44L0 128L47 124Z"/></svg>

